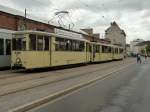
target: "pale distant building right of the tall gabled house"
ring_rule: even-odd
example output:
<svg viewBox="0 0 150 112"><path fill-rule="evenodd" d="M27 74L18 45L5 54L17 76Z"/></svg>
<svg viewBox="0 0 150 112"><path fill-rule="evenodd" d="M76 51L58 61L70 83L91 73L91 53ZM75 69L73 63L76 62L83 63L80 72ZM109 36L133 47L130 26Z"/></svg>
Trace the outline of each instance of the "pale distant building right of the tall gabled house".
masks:
<svg viewBox="0 0 150 112"><path fill-rule="evenodd" d="M139 46L137 46L138 43L144 42L143 39L135 39L130 42L130 51L132 54L138 54L139 52Z"/></svg>

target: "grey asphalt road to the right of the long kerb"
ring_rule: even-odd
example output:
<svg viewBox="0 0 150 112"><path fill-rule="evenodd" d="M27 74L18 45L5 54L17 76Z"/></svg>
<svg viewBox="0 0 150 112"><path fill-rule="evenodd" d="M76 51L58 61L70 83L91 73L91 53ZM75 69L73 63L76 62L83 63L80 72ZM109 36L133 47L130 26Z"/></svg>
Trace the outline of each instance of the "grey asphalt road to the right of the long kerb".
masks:
<svg viewBox="0 0 150 112"><path fill-rule="evenodd" d="M150 59L41 105L30 112L149 112Z"/></svg>

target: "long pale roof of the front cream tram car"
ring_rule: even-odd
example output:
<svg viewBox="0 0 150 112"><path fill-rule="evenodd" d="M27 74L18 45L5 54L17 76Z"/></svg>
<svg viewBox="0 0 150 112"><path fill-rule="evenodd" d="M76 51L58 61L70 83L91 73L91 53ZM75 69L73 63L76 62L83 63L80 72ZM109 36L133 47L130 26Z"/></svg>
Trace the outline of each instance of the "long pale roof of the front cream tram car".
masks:
<svg viewBox="0 0 150 112"><path fill-rule="evenodd" d="M25 31L15 31L15 32L13 32L13 34L39 34L39 35L56 36L56 37L60 37L60 38L67 38L67 39L72 39L72 40L80 40L80 41L89 42L88 40L86 40L83 37L75 38L75 37L71 37L71 36L59 35L59 34L55 34L55 33L43 32L43 31L25 30Z"/></svg>

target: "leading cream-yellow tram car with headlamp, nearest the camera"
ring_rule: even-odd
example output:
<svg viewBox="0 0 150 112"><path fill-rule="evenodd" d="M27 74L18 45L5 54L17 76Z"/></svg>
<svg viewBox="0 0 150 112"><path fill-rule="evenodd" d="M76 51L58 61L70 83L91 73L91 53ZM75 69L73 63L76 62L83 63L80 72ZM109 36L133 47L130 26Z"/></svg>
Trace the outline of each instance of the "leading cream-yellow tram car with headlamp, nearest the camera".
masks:
<svg viewBox="0 0 150 112"><path fill-rule="evenodd" d="M17 31L13 33L11 66L33 69L87 63L90 61L89 46L84 38Z"/></svg>

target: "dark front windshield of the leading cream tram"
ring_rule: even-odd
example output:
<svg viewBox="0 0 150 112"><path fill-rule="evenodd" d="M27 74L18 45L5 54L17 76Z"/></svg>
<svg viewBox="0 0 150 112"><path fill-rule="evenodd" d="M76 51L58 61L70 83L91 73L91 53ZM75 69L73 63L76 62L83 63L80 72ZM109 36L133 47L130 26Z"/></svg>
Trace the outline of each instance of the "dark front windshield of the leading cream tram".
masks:
<svg viewBox="0 0 150 112"><path fill-rule="evenodd" d="M25 51L26 38L23 35L15 35L12 39L12 49L17 51Z"/></svg>

